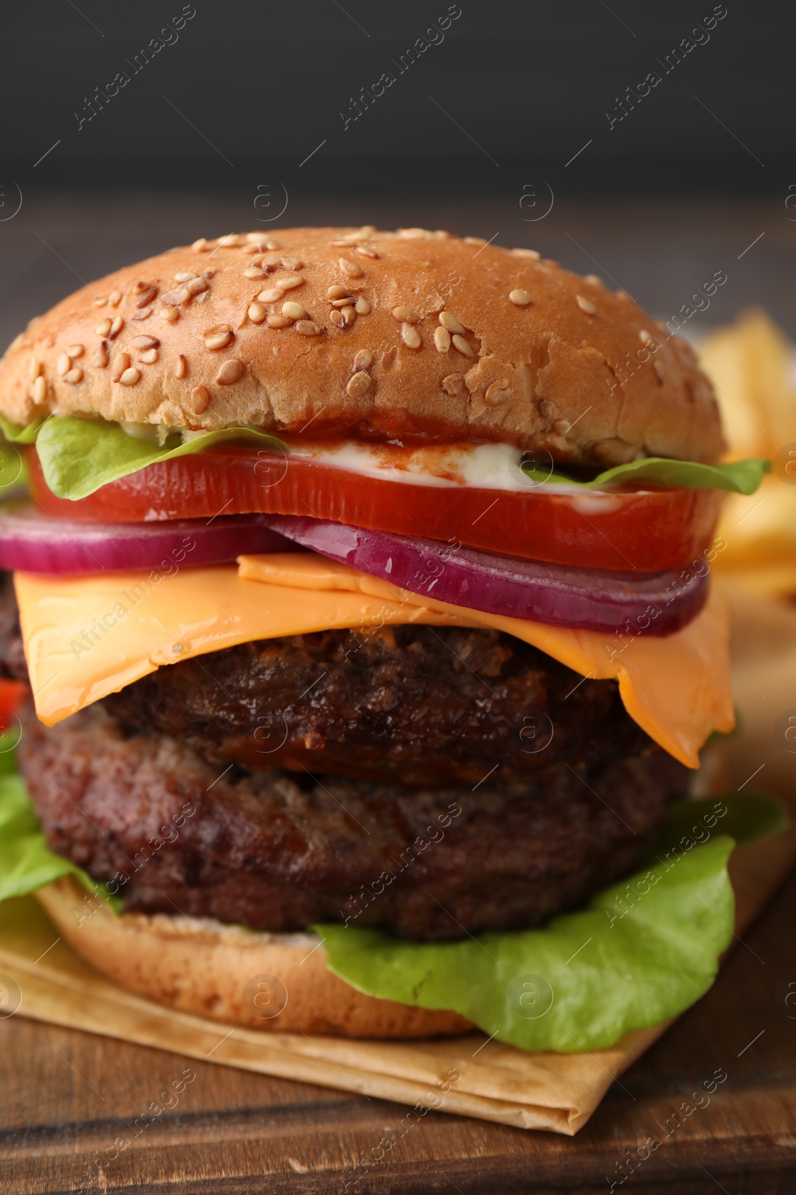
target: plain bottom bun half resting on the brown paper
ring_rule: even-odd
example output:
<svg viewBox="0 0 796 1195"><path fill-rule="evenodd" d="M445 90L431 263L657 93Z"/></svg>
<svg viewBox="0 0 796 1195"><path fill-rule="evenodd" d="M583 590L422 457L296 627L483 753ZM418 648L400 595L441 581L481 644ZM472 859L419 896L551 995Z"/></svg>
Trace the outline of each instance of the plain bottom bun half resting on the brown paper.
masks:
<svg viewBox="0 0 796 1195"><path fill-rule="evenodd" d="M315 933L263 933L169 913L117 917L73 876L36 896L97 970L180 1012L252 1029L343 1037L437 1037L474 1028L457 1012L357 992L329 972Z"/></svg>

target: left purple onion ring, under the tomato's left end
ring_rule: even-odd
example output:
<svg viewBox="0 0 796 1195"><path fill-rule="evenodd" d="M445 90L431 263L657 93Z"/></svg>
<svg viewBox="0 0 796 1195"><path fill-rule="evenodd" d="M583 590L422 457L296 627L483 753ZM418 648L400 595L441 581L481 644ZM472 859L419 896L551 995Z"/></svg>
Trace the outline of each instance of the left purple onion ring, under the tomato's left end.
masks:
<svg viewBox="0 0 796 1195"><path fill-rule="evenodd" d="M226 564L243 552L301 549L264 515L168 522L90 523L54 519L33 505L0 508L0 569L80 574Z"/></svg>

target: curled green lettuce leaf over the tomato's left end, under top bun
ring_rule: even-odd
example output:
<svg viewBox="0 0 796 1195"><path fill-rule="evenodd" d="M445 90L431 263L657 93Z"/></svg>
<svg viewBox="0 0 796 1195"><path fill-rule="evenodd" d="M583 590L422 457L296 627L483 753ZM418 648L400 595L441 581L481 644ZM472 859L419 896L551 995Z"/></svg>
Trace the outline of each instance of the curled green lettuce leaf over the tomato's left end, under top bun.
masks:
<svg viewBox="0 0 796 1195"><path fill-rule="evenodd" d="M277 436L253 428L203 431L186 443L177 434L161 447L152 440L128 435L118 423L72 416L47 419L38 429L36 451L53 494L58 498L85 498L101 485L136 473L147 465L202 452L228 440L242 440L270 452L288 452L288 446Z"/></svg>

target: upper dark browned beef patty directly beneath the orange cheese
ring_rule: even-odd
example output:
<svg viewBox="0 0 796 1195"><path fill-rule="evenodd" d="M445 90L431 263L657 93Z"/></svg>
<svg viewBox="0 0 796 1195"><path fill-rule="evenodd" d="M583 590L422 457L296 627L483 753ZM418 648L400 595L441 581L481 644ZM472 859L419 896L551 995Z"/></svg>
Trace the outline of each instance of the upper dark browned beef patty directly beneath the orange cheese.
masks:
<svg viewBox="0 0 796 1195"><path fill-rule="evenodd" d="M26 676L16 618L7 586L0 666ZM584 680L513 636L469 627L259 639L159 668L104 705L127 728L169 735L214 764L428 786L652 746L616 681Z"/></svg>

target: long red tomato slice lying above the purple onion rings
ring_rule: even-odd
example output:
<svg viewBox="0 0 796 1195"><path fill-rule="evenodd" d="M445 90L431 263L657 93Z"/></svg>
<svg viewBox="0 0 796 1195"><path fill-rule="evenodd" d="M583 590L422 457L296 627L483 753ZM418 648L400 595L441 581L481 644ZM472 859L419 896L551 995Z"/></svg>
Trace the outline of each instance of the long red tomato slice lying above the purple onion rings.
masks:
<svg viewBox="0 0 796 1195"><path fill-rule="evenodd" d="M717 490L562 495L414 485L234 445L148 465L75 502L51 494L35 449L29 468L33 497L62 519L310 515L556 564L646 572L698 557L710 541L722 498Z"/></svg>

